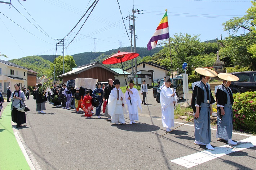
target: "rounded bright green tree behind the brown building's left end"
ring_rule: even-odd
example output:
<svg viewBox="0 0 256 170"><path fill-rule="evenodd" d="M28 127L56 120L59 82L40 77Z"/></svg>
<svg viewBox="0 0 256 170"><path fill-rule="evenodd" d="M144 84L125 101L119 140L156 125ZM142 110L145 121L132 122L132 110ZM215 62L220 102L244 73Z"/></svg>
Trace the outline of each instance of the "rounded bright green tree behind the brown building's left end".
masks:
<svg viewBox="0 0 256 170"><path fill-rule="evenodd" d="M63 56L58 56L58 58L54 59L54 62L50 64L50 70L54 72L54 64L55 64L55 77L63 74ZM64 71L65 73L70 72L72 68L76 66L75 60L72 56L66 55L64 58Z"/></svg>

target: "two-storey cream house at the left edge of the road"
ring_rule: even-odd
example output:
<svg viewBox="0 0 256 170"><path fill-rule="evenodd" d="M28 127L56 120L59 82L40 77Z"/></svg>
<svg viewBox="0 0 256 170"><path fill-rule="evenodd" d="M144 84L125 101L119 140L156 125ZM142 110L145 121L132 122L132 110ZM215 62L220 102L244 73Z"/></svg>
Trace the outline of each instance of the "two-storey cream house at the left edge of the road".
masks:
<svg viewBox="0 0 256 170"><path fill-rule="evenodd" d="M14 84L18 83L20 87L27 87L28 68L19 66L9 61L0 60L0 90L7 92L7 87L13 92Z"/></svg>

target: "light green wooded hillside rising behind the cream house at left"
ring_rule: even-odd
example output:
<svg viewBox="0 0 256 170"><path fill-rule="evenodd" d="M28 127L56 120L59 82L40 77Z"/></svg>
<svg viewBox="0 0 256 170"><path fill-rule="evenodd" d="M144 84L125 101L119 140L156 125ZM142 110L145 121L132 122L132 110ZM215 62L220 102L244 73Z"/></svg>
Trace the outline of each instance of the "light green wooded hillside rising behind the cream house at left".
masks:
<svg viewBox="0 0 256 170"><path fill-rule="evenodd" d="M42 75L47 75L49 77L48 72L51 62L44 60L39 56L27 56L21 59L12 59L9 61L37 72L37 77L41 77Z"/></svg>

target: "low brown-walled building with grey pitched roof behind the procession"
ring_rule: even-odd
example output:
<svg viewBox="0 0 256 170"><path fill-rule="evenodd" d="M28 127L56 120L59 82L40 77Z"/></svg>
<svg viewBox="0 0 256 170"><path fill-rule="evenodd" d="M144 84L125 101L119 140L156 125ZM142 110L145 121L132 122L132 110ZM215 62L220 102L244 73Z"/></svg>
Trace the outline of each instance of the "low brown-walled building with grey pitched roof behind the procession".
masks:
<svg viewBox="0 0 256 170"><path fill-rule="evenodd" d="M107 79L115 79L115 76L119 76L118 73L100 64L98 61L79 66L77 69L71 70L70 72L57 76L62 77L62 82L66 83L69 80L75 78L96 78L99 82L106 82Z"/></svg>

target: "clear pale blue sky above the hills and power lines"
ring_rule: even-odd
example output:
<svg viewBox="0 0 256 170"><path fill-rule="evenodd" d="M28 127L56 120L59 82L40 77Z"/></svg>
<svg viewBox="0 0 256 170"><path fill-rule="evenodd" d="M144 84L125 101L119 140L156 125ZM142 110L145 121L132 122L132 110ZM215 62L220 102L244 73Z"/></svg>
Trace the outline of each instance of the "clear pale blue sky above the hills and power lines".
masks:
<svg viewBox="0 0 256 170"><path fill-rule="evenodd" d="M137 47L147 47L165 9L168 9L171 37L176 33L187 33L192 36L200 35L201 42L215 40L216 37L220 40L220 35L225 39L228 33L223 31L222 23L234 17L242 17L252 5L246 0L99 0L91 15L88 17L92 8L79 22L93 2L94 0L12 0L11 6L0 3L0 52L8 56L1 59L55 55L56 52L61 55L63 46L58 45L56 51L58 41L54 39L61 40L64 37L65 55L104 52L131 46L129 19L126 17L132 15L133 8L140 10L140 14L134 14L137 17ZM130 24L132 22L133 20Z"/></svg>

